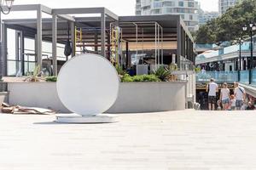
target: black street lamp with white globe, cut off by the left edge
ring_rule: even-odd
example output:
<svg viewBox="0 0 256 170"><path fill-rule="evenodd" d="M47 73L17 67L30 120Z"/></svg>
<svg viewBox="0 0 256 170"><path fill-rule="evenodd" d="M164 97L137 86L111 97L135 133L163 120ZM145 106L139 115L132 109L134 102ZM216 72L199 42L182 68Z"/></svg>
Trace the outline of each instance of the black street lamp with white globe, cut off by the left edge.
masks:
<svg viewBox="0 0 256 170"><path fill-rule="evenodd" d="M3 54L2 54L2 17L1 13L9 14L15 0L0 0L0 81L3 77ZM8 10L4 10L3 7L6 6Z"/></svg>

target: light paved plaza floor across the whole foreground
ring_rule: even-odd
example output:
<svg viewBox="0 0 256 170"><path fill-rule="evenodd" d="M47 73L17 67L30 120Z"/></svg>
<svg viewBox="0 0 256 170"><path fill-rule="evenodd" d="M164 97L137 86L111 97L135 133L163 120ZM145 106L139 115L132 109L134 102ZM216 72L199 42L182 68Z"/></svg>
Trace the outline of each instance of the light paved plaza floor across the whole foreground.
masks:
<svg viewBox="0 0 256 170"><path fill-rule="evenodd" d="M0 170L255 170L256 112L121 114L110 124L0 114Z"/></svg>

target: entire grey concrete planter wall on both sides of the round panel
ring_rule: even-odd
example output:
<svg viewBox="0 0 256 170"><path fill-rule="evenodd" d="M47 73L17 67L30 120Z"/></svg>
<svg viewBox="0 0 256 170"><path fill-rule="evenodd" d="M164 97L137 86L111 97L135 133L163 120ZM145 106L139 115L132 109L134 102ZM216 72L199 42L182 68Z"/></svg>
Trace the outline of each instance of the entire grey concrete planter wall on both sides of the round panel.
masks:
<svg viewBox="0 0 256 170"><path fill-rule="evenodd" d="M124 82L108 113L179 111L185 109L187 82ZM43 107L68 113L61 104L55 82L9 83L9 104ZM70 89L72 90L72 89Z"/></svg>

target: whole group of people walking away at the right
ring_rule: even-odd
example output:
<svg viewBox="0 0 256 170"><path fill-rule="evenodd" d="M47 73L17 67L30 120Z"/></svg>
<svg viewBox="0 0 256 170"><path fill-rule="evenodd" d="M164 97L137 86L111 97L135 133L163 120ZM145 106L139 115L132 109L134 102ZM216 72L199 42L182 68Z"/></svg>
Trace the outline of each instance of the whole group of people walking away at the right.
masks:
<svg viewBox="0 0 256 170"><path fill-rule="evenodd" d="M214 82L214 79L211 79L207 85L209 111L255 110L254 99L247 98L245 89L242 88L238 82L235 82L234 86L234 93L230 94L228 84L224 82L220 89L220 94L218 95L218 84Z"/></svg>

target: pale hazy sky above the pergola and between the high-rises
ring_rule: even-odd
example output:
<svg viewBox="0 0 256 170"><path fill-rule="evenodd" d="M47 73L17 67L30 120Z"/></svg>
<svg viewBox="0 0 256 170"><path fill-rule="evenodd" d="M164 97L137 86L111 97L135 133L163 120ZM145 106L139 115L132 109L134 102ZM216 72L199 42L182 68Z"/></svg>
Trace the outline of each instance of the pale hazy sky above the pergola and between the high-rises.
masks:
<svg viewBox="0 0 256 170"><path fill-rule="evenodd" d="M218 11L218 0L199 0L201 8ZM118 15L134 15L136 0L15 0L15 4L42 3L49 8L106 7Z"/></svg>

